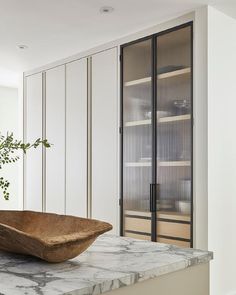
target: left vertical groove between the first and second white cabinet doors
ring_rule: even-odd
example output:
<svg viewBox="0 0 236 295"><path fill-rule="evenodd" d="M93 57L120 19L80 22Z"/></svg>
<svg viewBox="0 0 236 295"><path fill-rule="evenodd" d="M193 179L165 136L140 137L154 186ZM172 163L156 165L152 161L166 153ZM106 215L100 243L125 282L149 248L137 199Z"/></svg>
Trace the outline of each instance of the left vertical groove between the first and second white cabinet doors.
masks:
<svg viewBox="0 0 236 295"><path fill-rule="evenodd" d="M42 138L46 139L46 72L42 79ZM42 147L42 211L46 211L46 148Z"/></svg>

